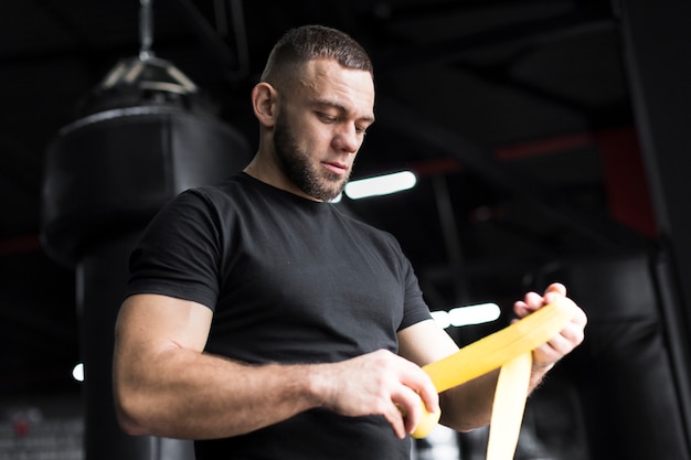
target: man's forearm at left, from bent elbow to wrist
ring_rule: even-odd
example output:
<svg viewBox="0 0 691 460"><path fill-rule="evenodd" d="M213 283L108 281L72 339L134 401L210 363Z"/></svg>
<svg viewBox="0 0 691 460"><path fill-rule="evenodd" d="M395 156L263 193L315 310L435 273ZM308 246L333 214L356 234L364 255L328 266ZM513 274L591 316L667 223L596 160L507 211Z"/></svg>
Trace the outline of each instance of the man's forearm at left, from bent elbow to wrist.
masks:
<svg viewBox="0 0 691 460"><path fill-rule="evenodd" d="M116 405L132 435L182 439L235 436L319 405L308 365L253 366L170 350L117 366Z"/></svg>

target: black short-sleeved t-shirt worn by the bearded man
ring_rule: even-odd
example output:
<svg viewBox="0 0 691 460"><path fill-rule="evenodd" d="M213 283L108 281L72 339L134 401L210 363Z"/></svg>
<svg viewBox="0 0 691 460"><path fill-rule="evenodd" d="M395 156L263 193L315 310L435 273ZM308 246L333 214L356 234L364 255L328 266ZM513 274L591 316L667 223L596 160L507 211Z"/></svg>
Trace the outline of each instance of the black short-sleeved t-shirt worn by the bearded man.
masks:
<svg viewBox="0 0 691 460"><path fill-rule="evenodd" d="M161 210L130 271L128 295L161 293L214 310L206 352L248 363L396 352L396 332L429 318L393 236L244 173L184 192ZM326 409L195 446L198 460L410 453L383 418Z"/></svg>

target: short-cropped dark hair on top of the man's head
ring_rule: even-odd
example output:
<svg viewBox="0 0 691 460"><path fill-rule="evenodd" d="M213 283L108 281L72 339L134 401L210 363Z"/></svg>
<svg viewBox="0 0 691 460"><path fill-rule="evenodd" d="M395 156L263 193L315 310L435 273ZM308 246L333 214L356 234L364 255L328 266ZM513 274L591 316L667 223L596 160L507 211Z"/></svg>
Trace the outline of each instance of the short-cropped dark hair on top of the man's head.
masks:
<svg viewBox="0 0 691 460"><path fill-rule="evenodd" d="M370 56L350 35L323 25L302 25L290 29L278 40L268 56L262 81L280 78L279 74L289 72L288 67L319 58L336 60L346 68L373 75Z"/></svg>

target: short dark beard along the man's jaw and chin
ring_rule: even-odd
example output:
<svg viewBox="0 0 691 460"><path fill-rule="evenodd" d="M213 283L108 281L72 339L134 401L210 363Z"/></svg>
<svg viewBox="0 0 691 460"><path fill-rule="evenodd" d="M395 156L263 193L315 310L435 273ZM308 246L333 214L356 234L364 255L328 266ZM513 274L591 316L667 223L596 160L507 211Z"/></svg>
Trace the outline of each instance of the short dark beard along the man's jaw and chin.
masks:
<svg viewBox="0 0 691 460"><path fill-rule="evenodd" d="M350 172L337 174L315 164L300 149L287 117L280 113L274 127L274 149L278 162L290 181L309 196L320 201L336 199L348 183Z"/></svg>

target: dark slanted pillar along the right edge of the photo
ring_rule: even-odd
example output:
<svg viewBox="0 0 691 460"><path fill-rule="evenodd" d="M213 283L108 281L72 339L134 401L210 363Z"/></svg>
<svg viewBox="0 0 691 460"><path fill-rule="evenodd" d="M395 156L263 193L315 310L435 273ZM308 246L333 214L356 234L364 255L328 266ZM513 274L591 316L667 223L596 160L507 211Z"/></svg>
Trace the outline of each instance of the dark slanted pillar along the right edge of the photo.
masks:
<svg viewBox="0 0 691 460"><path fill-rule="evenodd" d="M673 317L669 346L680 409L691 443L691 2L616 3L637 131L665 260L665 296Z"/></svg>

